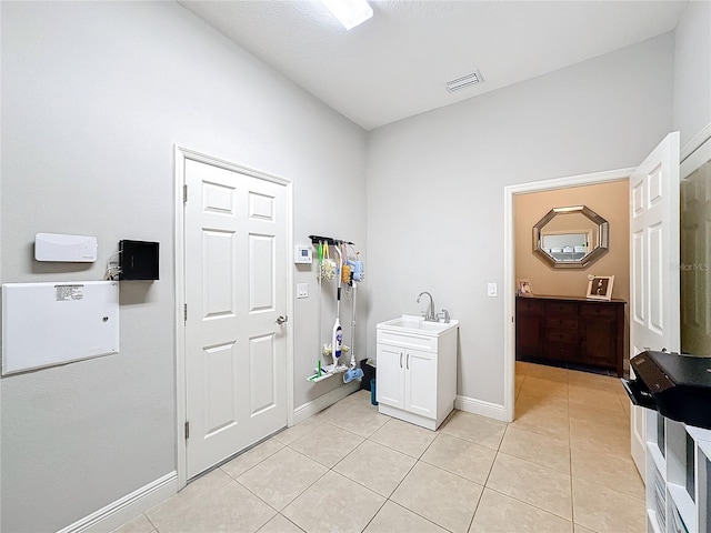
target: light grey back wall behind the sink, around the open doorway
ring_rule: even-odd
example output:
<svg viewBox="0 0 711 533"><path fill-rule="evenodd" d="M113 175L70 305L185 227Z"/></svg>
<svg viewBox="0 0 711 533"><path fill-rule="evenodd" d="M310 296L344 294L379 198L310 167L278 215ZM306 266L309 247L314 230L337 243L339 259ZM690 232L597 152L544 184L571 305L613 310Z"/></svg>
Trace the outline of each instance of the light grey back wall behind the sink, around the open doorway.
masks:
<svg viewBox="0 0 711 533"><path fill-rule="evenodd" d="M507 318L487 296L504 281L503 188L639 164L671 131L673 46L664 34L369 133L371 351L374 324L430 291L461 320L459 394L503 403Z"/></svg>

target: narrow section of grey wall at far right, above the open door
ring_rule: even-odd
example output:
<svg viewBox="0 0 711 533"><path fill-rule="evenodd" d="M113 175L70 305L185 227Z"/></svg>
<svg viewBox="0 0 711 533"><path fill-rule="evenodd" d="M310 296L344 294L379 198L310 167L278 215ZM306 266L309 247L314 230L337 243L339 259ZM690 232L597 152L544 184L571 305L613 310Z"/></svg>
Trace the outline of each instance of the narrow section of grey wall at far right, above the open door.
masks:
<svg viewBox="0 0 711 533"><path fill-rule="evenodd" d="M689 2L674 41L674 130L683 148L711 124L711 2Z"/></svg>

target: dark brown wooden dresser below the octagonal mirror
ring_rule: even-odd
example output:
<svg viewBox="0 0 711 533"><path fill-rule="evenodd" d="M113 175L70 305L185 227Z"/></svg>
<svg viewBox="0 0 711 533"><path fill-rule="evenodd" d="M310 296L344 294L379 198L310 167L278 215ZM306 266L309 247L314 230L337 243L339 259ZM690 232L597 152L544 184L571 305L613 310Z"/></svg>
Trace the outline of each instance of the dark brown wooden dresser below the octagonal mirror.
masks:
<svg viewBox="0 0 711 533"><path fill-rule="evenodd" d="M624 300L517 296L515 359L615 371L624 361Z"/></svg>

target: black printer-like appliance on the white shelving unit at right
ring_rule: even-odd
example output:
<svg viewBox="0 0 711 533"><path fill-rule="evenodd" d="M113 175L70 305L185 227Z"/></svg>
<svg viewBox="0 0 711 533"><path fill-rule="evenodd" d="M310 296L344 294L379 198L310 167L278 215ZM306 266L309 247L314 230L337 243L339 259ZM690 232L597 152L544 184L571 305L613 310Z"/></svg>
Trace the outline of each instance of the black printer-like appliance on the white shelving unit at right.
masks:
<svg viewBox="0 0 711 533"><path fill-rule="evenodd" d="M711 430L711 356L642 352L630 360L634 380L621 380L634 405Z"/></svg>

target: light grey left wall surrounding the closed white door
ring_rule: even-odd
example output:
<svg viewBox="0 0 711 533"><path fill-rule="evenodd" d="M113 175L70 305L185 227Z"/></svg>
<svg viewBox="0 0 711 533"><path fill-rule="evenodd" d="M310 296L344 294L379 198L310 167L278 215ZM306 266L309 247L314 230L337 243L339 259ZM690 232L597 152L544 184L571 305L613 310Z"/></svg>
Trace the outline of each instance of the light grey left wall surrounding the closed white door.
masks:
<svg viewBox="0 0 711 533"><path fill-rule="evenodd" d="M364 132L176 3L1 9L2 282L99 280L120 239L161 244L160 281L121 284L119 355L0 380L0 529L56 531L176 470L173 144L291 179L296 243L364 250ZM97 235L99 261L37 263L36 232ZM334 385L304 381L314 280L294 269L297 406Z"/></svg>

